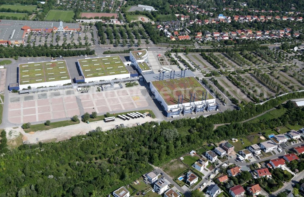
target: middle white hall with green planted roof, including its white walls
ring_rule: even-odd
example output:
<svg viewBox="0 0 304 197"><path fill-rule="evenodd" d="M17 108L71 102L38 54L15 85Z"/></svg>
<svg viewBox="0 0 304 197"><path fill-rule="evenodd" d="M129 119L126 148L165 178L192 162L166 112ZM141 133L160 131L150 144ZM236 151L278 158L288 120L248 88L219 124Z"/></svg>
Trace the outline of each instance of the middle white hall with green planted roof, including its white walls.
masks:
<svg viewBox="0 0 304 197"><path fill-rule="evenodd" d="M130 72L119 55L78 59L78 67L85 82L130 77Z"/></svg>

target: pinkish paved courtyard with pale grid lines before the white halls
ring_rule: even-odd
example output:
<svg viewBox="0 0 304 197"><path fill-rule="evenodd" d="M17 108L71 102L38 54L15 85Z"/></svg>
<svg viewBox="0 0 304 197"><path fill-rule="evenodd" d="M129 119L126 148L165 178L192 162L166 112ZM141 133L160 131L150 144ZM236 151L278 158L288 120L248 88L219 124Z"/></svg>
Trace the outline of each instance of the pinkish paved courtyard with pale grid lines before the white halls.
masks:
<svg viewBox="0 0 304 197"><path fill-rule="evenodd" d="M88 93L74 89L23 95L10 93L8 120L14 124L53 119L59 121L85 112L116 113L149 105L147 91L139 85L105 92L96 90L97 87L89 88Z"/></svg>

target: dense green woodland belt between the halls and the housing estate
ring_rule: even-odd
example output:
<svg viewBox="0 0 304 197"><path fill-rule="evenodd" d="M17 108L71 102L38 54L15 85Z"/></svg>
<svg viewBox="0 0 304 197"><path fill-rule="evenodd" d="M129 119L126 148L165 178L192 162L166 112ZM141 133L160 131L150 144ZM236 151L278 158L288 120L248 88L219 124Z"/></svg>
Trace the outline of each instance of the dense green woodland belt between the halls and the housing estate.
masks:
<svg viewBox="0 0 304 197"><path fill-rule="evenodd" d="M6 149L1 140L1 196L106 196L152 168L164 164L205 142L218 142L287 123L304 124L304 108L291 102L282 117L258 123L239 123L281 102L303 97L291 93L263 105L248 104L240 111L208 117L145 123L132 128L100 128L88 135L58 143L21 145ZM231 122L213 130L214 123ZM156 125L156 126L154 126ZM1 134L3 135L3 132ZM3 144L2 144L3 143Z"/></svg>

